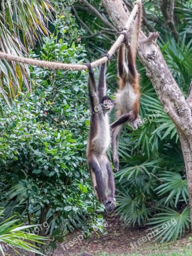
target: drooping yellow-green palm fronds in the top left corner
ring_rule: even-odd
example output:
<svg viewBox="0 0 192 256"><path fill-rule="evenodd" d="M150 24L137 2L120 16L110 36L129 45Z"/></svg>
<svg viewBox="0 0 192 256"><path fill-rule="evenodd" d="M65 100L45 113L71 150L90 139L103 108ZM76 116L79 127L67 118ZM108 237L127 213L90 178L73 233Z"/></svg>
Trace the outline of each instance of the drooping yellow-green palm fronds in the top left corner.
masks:
<svg viewBox="0 0 192 256"><path fill-rule="evenodd" d="M23 56L23 52L27 54L28 47L35 46L41 34L49 34L46 20L54 12L49 1L17 0L10 3L3 0L1 6L0 48L3 52ZM8 105L10 99L19 95L23 82L26 89L31 90L28 65L0 60L0 69L0 87Z"/></svg>

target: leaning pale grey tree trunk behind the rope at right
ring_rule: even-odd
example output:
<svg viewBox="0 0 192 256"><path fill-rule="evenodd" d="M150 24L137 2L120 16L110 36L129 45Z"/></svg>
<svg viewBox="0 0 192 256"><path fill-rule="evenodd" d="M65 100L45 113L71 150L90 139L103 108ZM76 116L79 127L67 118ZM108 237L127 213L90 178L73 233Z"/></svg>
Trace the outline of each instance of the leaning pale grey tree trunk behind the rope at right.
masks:
<svg viewBox="0 0 192 256"><path fill-rule="evenodd" d="M113 25L120 31L129 17L129 10L123 0L102 0L102 3ZM191 102L186 102L183 93L167 67L160 48L156 44L158 35L158 32L149 33L147 38L140 31L138 57L146 68L146 75L152 81L163 109L175 123L180 136L186 167L192 227L192 113L189 108ZM190 96L188 99L190 99Z"/></svg>

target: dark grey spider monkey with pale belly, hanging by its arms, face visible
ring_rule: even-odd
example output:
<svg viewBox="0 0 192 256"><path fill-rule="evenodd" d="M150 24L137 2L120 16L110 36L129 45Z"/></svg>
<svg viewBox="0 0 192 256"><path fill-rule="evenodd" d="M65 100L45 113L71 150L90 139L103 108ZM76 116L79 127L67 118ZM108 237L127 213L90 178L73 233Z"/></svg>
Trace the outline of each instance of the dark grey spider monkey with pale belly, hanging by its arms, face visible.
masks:
<svg viewBox="0 0 192 256"><path fill-rule="evenodd" d="M109 54L105 54L110 59ZM90 100L90 130L87 145L87 163L92 179L95 195L104 204L108 213L113 212L115 203L115 182L111 164L106 155L110 144L109 111L112 109L112 101L106 96L105 67L102 64L98 87L91 64L85 64L89 68L89 100ZM106 188L108 195L106 196Z"/></svg>

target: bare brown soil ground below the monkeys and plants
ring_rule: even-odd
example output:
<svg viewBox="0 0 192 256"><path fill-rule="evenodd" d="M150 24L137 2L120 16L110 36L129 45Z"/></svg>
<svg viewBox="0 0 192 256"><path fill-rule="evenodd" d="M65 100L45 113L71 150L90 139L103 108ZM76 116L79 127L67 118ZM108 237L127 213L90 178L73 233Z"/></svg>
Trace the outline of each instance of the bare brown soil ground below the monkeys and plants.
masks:
<svg viewBox="0 0 192 256"><path fill-rule="evenodd" d="M83 251L87 251L90 254L116 253L118 256L123 253L125 256L130 253L138 253L137 255L142 256L153 252L168 255L169 252L179 252L184 247L192 247L192 240L189 239L192 234L187 234L183 239L164 243L163 245L156 244L154 242L155 238L151 239L151 241L144 239L146 241L142 242L142 238L150 233L149 227L125 227L119 218L115 216L105 217L105 219L108 226L104 233L99 233L99 237L92 232L92 236L89 239L85 239L81 231L76 231L66 236L65 242L57 245L53 256L76 256ZM6 250L6 253L11 256L18 255L10 250ZM22 251L21 255L34 256L34 253L24 253Z"/></svg>

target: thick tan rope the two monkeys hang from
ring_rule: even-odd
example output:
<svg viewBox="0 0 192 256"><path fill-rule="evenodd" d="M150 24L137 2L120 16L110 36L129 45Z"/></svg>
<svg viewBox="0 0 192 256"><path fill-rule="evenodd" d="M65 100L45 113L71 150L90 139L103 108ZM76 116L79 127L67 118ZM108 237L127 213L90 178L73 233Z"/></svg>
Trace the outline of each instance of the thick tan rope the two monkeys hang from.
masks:
<svg viewBox="0 0 192 256"><path fill-rule="evenodd" d="M138 4L136 2L132 10L132 13L129 16L129 19L125 25L126 29L128 30L130 29L134 18L138 14L138 9L139 9ZM111 49L108 52L110 56L112 56L116 52L120 44L122 44L123 38L124 38L124 35L120 35L117 38L117 40L115 41L115 43L112 45ZM53 62L53 61L40 61L33 58L24 58L24 57L9 55L4 52L0 52L0 59L6 60L6 61L14 61L14 62L23 63L23 64L29 64L29 65L38 66L38 67L47 67L49 69L57 69L57 70L87 70L88 69L86 65L66 64L66 63ZM103 57L98 59L97 61L92 62L91 66L97 67L107 61L108 61L108 58Z"/></svg>

